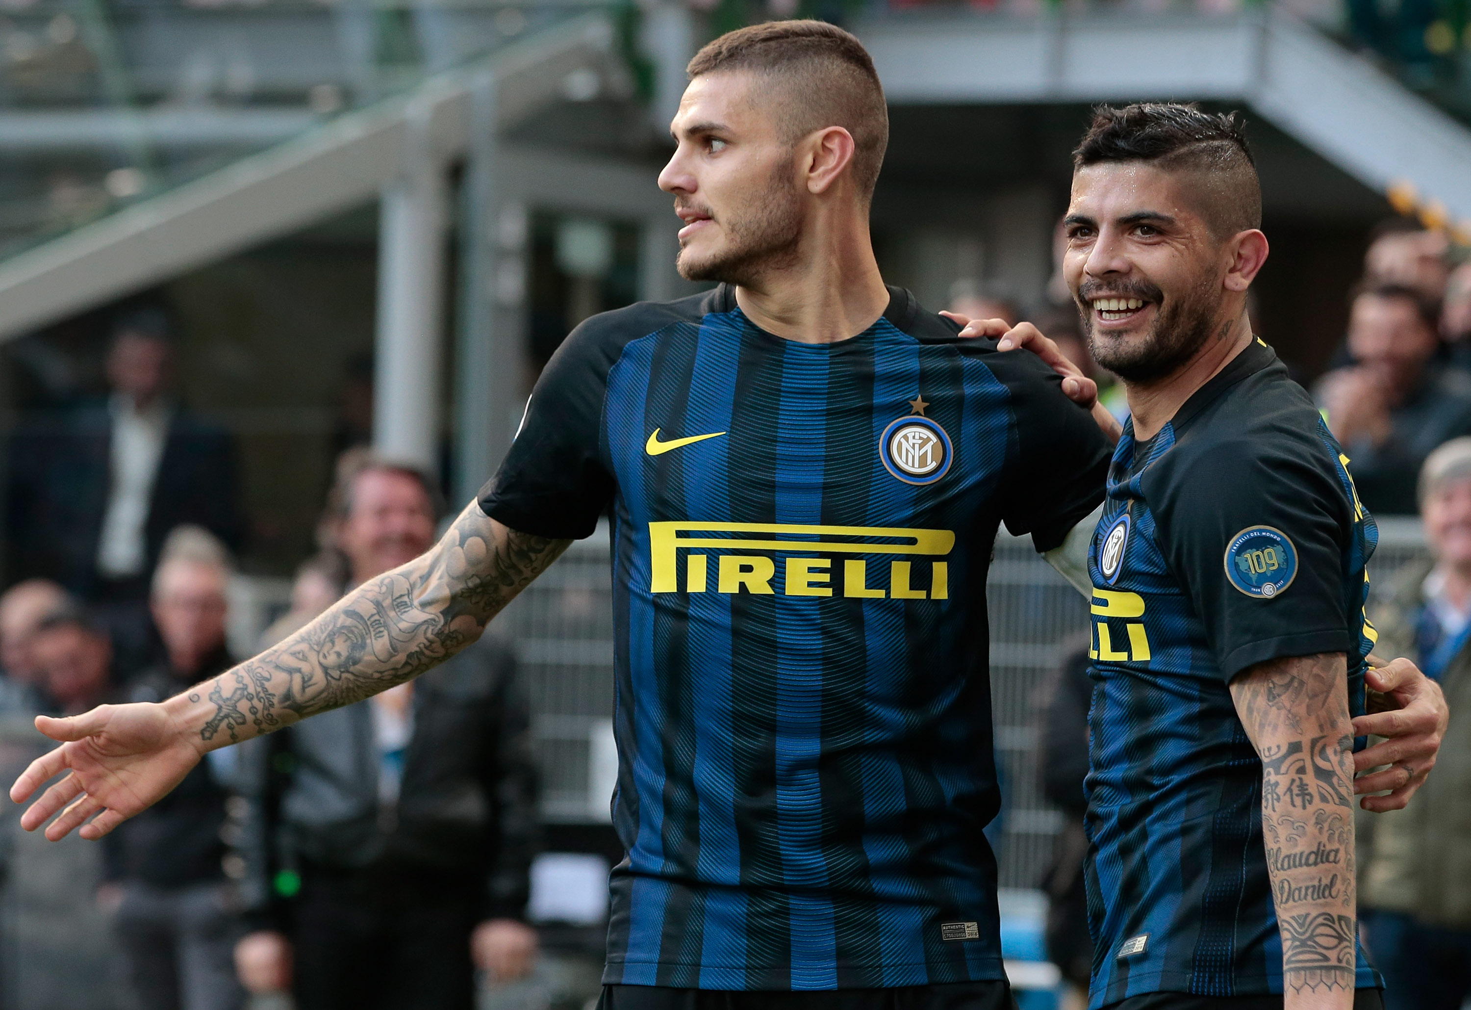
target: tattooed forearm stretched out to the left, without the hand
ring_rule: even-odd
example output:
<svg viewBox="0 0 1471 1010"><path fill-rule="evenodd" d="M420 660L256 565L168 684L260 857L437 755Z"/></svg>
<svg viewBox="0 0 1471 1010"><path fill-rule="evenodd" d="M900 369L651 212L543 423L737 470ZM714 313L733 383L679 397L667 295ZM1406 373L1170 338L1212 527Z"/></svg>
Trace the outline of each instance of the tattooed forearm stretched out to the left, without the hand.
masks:
<svg viewBox="0 0 1471 1010"><path fill-rule="evenodd" d="M412 680L478 639L568 543L509 530L471 502L428 554L190 692L207 710L200 738L232 744Z"/></svg>

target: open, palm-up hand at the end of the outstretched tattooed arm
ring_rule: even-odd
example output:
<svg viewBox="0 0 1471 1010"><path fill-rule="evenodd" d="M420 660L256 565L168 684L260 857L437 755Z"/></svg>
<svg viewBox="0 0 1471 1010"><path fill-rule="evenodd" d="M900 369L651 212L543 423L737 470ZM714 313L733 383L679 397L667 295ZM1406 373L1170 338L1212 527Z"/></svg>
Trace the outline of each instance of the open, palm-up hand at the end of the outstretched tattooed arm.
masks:
<svg viewBox="0 0 1471 1010"><path fill-rule="evenodd" d="M35 727L62 745L31 761L10 786L10 799L25 802L71 769L21 816L21 827L29 832L65 807L46 829L53 842L78 826L82 838L101 838L157 802L204 754L197 735L191 739L165 705L99 705L68 718L37 716ZM87 823L93 814L96 820Z"/></svg>

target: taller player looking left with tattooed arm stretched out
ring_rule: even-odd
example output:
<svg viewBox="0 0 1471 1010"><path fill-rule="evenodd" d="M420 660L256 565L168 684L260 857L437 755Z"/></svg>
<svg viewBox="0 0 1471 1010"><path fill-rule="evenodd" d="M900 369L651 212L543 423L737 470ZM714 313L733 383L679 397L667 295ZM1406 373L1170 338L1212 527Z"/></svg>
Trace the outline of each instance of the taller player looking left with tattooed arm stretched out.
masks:
<svg viewBox="0 0 1471 1010"><path fill-rule="evenodd" d="M49 835L101 810L97 836L203 749L421 673L610 511L628 857L605 1006L1012 1006L986 574L1002 523L1065 542L1111 445L1037 356L884 286L888 122L858 40L759 25L690 75L659 181L681 272L719 286L580 325L418 561L160 708L46 723L85 742L18 786L75 770L28 827L75 799Z"/></svg>

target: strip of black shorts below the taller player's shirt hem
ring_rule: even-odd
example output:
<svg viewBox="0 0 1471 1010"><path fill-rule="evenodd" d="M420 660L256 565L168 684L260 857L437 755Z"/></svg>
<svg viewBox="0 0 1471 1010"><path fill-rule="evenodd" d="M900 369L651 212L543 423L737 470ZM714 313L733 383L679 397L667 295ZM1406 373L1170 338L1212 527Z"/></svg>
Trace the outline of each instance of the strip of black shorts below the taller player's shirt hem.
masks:
<svg viewBox="0 0 1471 1010"><path fill-rule="evenodd" d="M1016 1010L1006 982L908 985L894 989L731 992L605 985L597 1010Z"/></svg>

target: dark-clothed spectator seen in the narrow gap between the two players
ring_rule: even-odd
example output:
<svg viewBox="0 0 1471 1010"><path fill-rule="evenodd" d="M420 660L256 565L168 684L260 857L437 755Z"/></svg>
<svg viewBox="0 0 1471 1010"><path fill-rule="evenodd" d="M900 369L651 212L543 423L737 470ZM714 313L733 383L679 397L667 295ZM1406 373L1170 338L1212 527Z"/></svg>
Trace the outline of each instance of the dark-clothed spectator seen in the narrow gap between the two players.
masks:
<svg viewBox="0 0 1471 1010"><path fill-rule="evenodd" d="M1093 970L1089 897L1083 876L1089 838L1083 827L1089 774L1089 708L1093 679L1087 649L1078 649L1058 670L1041 713L1041 791L1062 811L1052 867L1041 886L1047 892L1047 957L1062 970L1071 1007L1087 1006Z"/></svg>

